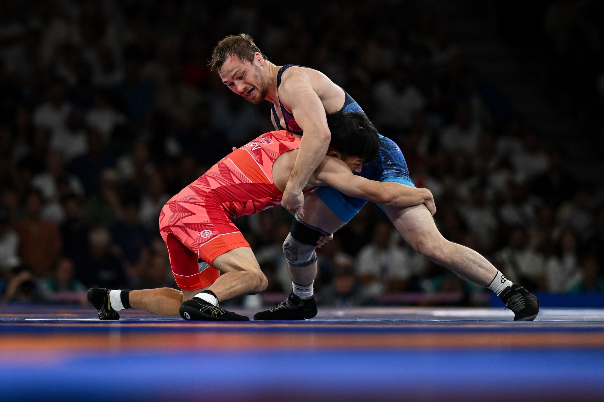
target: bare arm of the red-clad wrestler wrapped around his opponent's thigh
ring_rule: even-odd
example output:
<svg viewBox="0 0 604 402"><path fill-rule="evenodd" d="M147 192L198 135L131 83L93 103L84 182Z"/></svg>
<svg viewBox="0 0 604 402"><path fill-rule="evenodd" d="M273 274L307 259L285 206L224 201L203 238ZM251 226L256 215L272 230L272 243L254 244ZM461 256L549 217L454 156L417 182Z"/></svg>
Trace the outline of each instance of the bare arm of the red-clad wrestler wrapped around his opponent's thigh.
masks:
<svg viewBox="0 0 604 402"><path fill-rule="evenodd" d="M378 205L406 208L425 204L434 215L436 208L427 188L416 188L394 182L376 182L352 174L338 158L324 157L310 177L309 185L327 185L350 197L359 197Z"/></svg>

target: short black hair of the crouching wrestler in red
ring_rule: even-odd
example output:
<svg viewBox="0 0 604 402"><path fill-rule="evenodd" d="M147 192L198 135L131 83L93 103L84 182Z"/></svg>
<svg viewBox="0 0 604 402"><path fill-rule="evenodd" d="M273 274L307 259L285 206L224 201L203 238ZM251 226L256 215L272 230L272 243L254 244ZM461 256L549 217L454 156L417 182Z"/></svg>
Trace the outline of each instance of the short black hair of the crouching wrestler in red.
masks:
<svg viewBox="0 0 604 402"><path fill-rule="evenodd" d="M327 126L332 133L329 146L347 156L357 156L365 162L379 155L377 129L363 112L335 112L327 115Z"/></svg>

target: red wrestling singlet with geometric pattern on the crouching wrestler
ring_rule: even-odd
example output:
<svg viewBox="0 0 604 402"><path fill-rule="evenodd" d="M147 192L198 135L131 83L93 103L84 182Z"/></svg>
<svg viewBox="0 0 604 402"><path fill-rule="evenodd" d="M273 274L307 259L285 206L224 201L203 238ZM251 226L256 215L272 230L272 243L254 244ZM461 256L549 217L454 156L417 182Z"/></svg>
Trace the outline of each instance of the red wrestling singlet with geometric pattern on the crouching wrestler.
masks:
<svg viewBox="0 0 604 402"><path fill-rule="evenodd" d="M159 214L172 273L182 290L209 286L220 275L214 258L249 247L232 219L281 204L272 165L300 139L286 131L265 133L234 150L172 197ZM310 191L310 190L309 190ZM198 257L205 261L198 263Z"/></svg>

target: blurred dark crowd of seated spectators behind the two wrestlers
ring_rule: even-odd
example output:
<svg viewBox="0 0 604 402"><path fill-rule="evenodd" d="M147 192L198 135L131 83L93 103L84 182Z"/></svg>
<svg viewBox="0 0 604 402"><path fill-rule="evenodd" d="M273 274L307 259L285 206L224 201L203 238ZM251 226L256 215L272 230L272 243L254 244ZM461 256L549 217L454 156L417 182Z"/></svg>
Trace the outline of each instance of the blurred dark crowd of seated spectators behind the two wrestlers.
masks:
<svg viewBox="0 0 604 402"><path fill-rule="evenodd" d="M567 170L565 150L481 79L421 2L207 3L0 2L2 301L176 286L161 207L231 147L272 130L268 103L246 103L206 66L215 43L240 32L276 65L310 66L345 88L432 191L446 238L531 290L604 292L602 188ZM289 213L235 223L267 292L289 292ZM416 254L374 205L319 251L324 305L401 292L467 303L483 292Z"/></svg>

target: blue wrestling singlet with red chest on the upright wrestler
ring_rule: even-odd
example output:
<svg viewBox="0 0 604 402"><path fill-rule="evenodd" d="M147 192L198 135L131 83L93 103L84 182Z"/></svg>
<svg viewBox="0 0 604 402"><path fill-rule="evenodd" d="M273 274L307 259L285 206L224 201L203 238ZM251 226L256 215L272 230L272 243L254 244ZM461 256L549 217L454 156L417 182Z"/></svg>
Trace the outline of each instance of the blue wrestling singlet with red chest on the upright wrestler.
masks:
<svg viewBox="0 0 604 402"><path fill-rule="evenodd" d="M288 64L281 67L277 74L277 89L279 88L279 85L281 85L281 75L283 74L283 71L290 67L304 66ZM361 109L361 106L359 106L346 91L344 91L344 94L346 97L344 99L344 106L342 106L341 109L343 112L355 110L357 112L365 113L363 109ZM283 115L285 127L281 127L275 105L271 103L271 107L272 115L279 130L288 130L289 132L297 134L303 133L300 126L298 126L298 123L296 123L294 115L283 107L281 101L279 101L279 107L281 109L281 114ZM396 182L415 187L415 183L411 180L411 177L409 177L409 170L405 162L405 157L403 156L403 153L400 152L399 146L383 135L379 135L379 139L381 145L379 156L374 161L364 164L361 173L355 174L379 182ZM361 211L361 208L363 208L365 203L367 203L367 200L349 197L332 187L319 187L315 190L315 193L324 203L326 203L329 209L338 215L339 219L344 222L349 222L353 216ZM379 207L383 210L381 206Z"/></svg>

